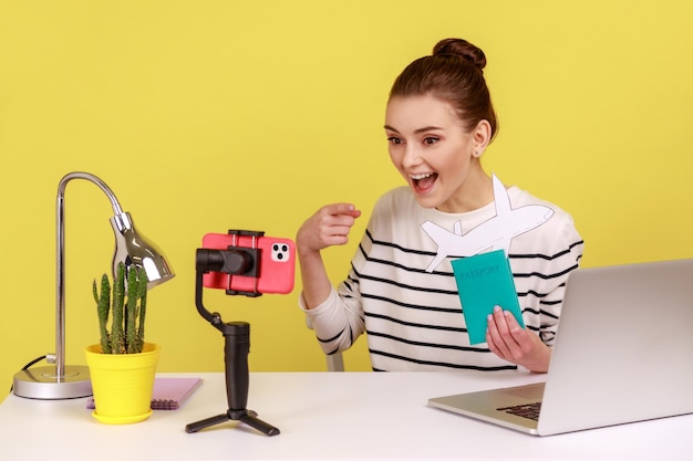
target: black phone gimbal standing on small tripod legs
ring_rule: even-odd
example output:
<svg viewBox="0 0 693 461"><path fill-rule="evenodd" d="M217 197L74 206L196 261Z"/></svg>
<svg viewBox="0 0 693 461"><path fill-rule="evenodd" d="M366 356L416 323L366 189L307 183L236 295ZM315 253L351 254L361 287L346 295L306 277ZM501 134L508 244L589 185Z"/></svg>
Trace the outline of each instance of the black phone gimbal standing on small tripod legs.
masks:
<svg viewBox="0 0 693 461"><path fill-rule="evenodd" d="M228 410L225 413L192 422L185 427L188 433L197 432L210 426L234 420L244 422L267 436L279 434L279 429L257 418L257 413L248 410L248 353L250 352L250 324L246 322L224 323L218 313L210 313L203 304L203 275L205 272L225 272L229 274L251 274L257 271L257 249L229 248L228 250L198 249L196 254L195 304L199 314L215 328L224 334L224 362L226 371L226 397ZM257 276L257 273L252 276ZM245 294L259 296L260 293L231 292L227 294Z"/></svg>

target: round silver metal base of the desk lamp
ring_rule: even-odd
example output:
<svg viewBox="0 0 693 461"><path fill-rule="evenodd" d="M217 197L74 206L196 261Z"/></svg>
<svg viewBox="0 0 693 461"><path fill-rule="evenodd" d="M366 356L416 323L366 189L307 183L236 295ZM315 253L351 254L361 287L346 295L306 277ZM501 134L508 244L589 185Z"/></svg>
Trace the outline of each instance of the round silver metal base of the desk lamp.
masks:
<svg viewBox="0 0 693 461"><path fill-rule="evenodd" d="M89 367L65 365L64 376L58 378L55 367L34 367L14 375L12 391L15 396L39 400L62 400L90 397L92 381Z"/></svg>

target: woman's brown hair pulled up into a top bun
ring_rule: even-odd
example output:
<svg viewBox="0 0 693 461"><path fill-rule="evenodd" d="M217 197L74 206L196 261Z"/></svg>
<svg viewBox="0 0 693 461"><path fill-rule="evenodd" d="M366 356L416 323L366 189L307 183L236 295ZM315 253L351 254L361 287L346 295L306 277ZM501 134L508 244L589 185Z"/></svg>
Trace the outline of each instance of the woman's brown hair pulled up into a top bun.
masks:
<svg viewBox="0 0 693 461"><path fill-rule="evenodd" d="M477 46L463 39L441 40L432 55L417 59L402 71L390 98L432 95L452 105L466 129L488 121L493 139L498 122L484 78L485 66L486 55Z"/></svg>

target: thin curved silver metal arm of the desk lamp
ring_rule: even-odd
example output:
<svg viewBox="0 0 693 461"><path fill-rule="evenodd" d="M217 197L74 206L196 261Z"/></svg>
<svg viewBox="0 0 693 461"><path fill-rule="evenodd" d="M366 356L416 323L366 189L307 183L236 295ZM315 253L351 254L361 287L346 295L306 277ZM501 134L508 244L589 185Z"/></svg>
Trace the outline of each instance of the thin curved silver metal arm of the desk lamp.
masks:
<svg viewBox="0 0 693 461"><path fill-rule="evenodd" d="M55 203L55 378L60 383L65 376L65 188L72 179L86 179L95 184L111 200L113 212L123 214L121 205L111 188L96 176L73 171L60 180Z"/></svg>

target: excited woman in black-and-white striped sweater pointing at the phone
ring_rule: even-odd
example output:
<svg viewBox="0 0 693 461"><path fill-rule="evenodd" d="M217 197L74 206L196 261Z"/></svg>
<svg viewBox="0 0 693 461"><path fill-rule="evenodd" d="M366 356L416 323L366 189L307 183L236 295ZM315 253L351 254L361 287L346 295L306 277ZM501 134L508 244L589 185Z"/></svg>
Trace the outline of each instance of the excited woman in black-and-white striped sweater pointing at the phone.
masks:
<svg viewBox="0 0 693 461"><path fill-rule="evenodd" d="M394 82L385 135L407 187L379 199L349 276L337 290L321 251L346 243L361 212L351 203L328 205L299 229L300 304L327 354L349 348L365 332L374 370L548 370L566 281L582 255L571 217L507 188L513 209L539 205L552 213L508 240L526 328L497 306L488 316L486 343L477 345L469 344L451 266L451 260L472 254L438 254L422 227L432 222L465 239L496 217L494 180L480 164L498 129L485 65L482 50L446 39Z"/></svg>

